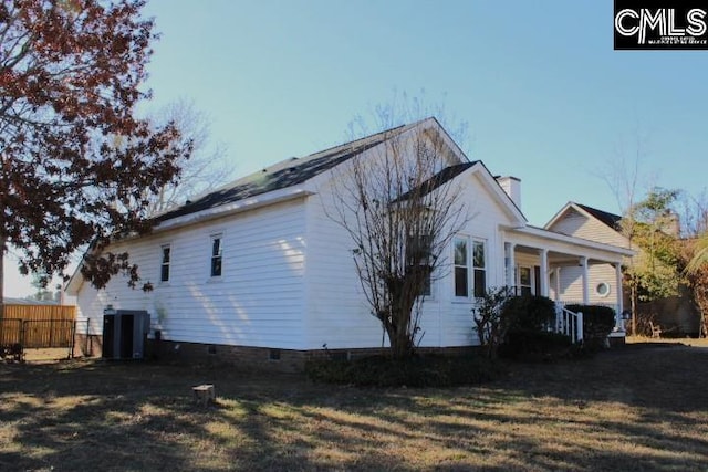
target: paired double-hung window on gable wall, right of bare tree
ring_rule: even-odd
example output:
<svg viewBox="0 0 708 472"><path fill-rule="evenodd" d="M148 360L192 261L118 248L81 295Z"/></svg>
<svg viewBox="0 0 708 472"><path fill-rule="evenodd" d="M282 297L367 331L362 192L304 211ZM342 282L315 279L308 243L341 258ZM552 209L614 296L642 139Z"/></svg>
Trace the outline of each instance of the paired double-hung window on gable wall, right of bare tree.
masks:
<svg viewBox="0 0 708 472"><path fill-rule="evenodd" d="M455 296L479 298L487 292L487 256L482 240L456 237L454 244Z"/></svg>

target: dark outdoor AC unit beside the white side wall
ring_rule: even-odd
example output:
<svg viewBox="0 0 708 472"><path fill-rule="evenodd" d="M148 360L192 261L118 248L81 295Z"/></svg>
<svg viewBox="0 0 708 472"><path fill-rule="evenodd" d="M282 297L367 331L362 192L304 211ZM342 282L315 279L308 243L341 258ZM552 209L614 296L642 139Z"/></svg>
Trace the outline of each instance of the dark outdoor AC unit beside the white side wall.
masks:
<svg viewBox="0 0 708 472"><path fill-rule="evenodd" d="M150 328L150 314L144 310L105 310L103 353L106 359L142 359Z"/></svg>

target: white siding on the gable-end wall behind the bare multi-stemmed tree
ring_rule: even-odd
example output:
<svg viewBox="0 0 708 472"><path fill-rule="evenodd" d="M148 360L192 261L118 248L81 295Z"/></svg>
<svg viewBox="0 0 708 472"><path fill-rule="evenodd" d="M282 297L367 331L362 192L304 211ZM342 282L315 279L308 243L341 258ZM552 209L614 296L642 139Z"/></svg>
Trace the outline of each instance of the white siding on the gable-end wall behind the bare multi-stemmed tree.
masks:
<svg viewBox="0 0 708 472"><path fill-rule="evenodd" d="M481 239L487 250L487 284L503 285L503 250L499 224L507 217L496 199L483 190L476 175L466 174L461 198L471 220L460 234ZM306 336L309 348L379 347L383 328L369 313L352 258L352 242L344 229L323 210L331 207L330 187L322 185L308 201ZM452 248L446 253L420 317L420 346L467 346L477 343L472 331L472 298L456 301L451 271Z"/></svg>

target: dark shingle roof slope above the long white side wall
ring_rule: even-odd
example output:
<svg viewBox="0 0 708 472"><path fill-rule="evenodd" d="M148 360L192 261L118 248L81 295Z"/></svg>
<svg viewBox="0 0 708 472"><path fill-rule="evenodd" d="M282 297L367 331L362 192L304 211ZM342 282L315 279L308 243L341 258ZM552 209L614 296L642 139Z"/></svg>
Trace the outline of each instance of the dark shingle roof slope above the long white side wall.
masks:
<svg viewBox="0 0 708 472"><path fill-rule="evenodd" d="M420 122L418 122L420 123ZM207 210L227 203L232 203L246 198L256 197L273 190L284 189L291 186L303 183L306 180L329 170L354 156L377 146L394 136L413 128L418 123L398 126L375 135L356 139L340 146L332 147L303 158L290 158L261 171L242 177L217 190L204 196L199 196L191 201L187 201L181 207L167 211L156 218L166 221L197 211Z"/></svg>

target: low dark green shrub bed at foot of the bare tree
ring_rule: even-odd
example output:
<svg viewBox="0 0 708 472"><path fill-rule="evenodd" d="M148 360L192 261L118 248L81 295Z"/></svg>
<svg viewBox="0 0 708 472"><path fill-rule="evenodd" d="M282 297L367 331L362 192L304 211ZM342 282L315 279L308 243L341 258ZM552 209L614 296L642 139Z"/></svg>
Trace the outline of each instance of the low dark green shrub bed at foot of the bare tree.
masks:
<svg viewBox="0 0 708 472"><path fill-rule="evenodd" d="M408 359L367 356L354 360L309 360L305 374L314 381L361 387L454 387L476 385L499 376L501 367L480 356L419 355Z"/></svg>

